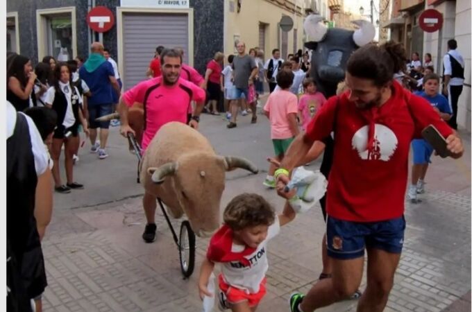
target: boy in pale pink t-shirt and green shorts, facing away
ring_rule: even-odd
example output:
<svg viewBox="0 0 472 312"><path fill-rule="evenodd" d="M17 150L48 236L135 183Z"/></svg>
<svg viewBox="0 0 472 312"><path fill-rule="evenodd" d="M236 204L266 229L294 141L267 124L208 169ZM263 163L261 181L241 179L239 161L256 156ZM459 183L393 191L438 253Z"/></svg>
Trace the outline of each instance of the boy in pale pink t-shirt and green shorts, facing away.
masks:
<svg viewBox="0 0 472 312"><path fill-rule="evenodd" d="M296 114L298 112L296 95L289 91L294 82L294 73L292 71L279 71L277 73L277 85L280 90L272 92L267 98L264 106L264 114L271 121L271 139L276 159L280 162L285 151L289 148L294 137L298 135L298 124ZM271 163L269 173L263 184L273 189L276 182L273 179L273 173L276 166Z"/></svg>

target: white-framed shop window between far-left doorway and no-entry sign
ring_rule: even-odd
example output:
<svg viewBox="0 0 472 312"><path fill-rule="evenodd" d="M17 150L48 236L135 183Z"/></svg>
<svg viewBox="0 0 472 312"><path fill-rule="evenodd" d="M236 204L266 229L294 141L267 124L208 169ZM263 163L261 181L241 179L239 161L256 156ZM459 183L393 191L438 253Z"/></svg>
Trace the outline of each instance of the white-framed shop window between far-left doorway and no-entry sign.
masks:
<svg viewBox="0 0 472 312"><path fill-rule="evenodd" d="M37 10L38 58L52 55L58 61L76 56L75 7Z"/></svg>

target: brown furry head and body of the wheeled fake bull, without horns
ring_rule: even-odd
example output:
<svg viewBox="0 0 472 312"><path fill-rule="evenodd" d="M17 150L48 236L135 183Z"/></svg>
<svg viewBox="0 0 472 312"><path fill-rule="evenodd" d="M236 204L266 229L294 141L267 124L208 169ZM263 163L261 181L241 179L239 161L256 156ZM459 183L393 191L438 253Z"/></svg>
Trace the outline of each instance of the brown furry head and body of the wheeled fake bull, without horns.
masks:
<svg viewBox="0 0 472 312"><path fill-rule="evenodd" d="M155 169L168 163L176 164L175 172L166 175L162 184L153 182ZM161 198L171 216L186 214L195 234L207 236L219 227L227 167L225 158L214 153L200 132L171 122L160 128L146 148L140 180L146 193Z"/></svg>

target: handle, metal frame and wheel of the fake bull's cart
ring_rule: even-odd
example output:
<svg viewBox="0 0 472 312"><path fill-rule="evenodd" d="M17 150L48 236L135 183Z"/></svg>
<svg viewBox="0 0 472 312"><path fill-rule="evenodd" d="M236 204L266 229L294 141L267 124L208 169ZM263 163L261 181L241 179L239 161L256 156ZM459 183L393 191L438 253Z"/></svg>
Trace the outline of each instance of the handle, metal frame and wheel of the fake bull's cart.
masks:
<svg viewBox="0 0 472 312"><path fill-rule="evenodd" d="M135 154L138 159L137 182L139 183L140 182L139 166L142 159L142 150L132 133L128 133L128 140L130 141L130 144L133 146L133 149L135 150ZM186 279L190 277L190 275L192 275L192 273L194 272L194 267L195 267L195 233L192 230L192 227L190 227L189 221L183 220L182 223L180 223L180 233L179 233L179 236L177 237L176 231L174 230L174 227L172 226L169 216L167 215L167 211L165 210L164 204L162 203L162 200L160 200L160 198L158 198L158 203L159 203L160 209L162 210L162 214L164 214L165 220L167 221L167 224L169 225L169 228L171 229L172 236L174 237L174 242L177 245L178 255L180 259L180 270L182 271L182 274L184 278Z"/></svg>

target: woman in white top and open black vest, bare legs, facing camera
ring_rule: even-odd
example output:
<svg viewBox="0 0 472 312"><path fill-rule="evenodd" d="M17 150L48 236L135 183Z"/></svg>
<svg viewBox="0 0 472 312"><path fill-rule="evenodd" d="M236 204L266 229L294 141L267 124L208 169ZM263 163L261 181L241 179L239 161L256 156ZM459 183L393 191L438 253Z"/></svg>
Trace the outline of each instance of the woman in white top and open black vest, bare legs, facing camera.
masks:
<svg viewBox="0 0 472 312"><path fill-rule="evenodd" d="M71 84L71 73L65 62L54 69L54 85L47 91L46 105L58 114L57 128L53 135L51 157L53 158L53 177L58 193L70 193L71 189L83 189L82 184L74 182L74 151L78 146L78 125L88 134L87 121L79 109L82 98L78 89ZM59 157L62 144L65 144L65 173L67 184L62 184L59 172Z"/></svg>

